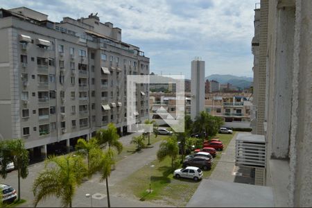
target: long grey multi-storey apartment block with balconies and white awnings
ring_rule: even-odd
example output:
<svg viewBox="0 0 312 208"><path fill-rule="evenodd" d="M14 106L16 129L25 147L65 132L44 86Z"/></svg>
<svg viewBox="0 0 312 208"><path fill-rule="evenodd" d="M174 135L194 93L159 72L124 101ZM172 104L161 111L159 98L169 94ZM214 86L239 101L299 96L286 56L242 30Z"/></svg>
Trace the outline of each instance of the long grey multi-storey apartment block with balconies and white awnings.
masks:
<svg viewBox="0 0 312 208"><path fill-rule="evenodd" d="M126 76L149 74L149 58L96 15L60 23L29 8L0 10L0 134L35 155L73 146L107 123L127 131ZM137 121L148 118L148 85L137 87ZM143 93L140 93L143 92Z"/></svg>

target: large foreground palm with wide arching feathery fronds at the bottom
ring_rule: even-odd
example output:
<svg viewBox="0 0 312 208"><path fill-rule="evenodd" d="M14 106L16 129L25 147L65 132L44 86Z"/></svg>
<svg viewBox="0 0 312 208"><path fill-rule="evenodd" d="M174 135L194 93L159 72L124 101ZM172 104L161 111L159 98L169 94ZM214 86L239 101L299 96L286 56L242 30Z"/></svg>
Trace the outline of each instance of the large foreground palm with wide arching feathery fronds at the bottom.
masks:
<svg viewBox="0 0 312 208"><path fill-rule="evenodd" d="M39 173L33 183L34 206L38 202L55 196L61 199L62 207L71 207L73 196L87 173L83 157L67 155L49 157L45 161L44 171Z"/></svg>

